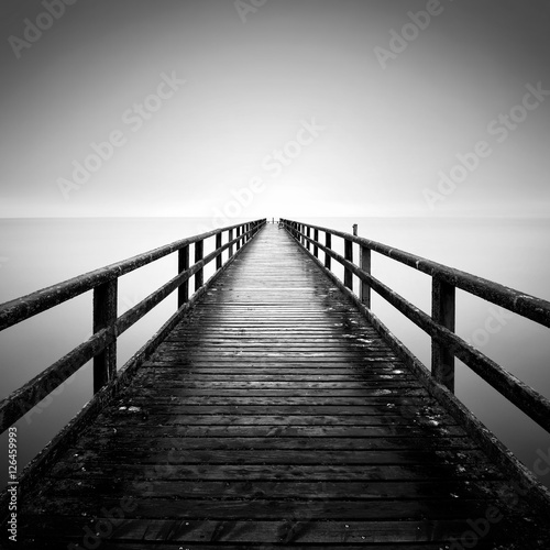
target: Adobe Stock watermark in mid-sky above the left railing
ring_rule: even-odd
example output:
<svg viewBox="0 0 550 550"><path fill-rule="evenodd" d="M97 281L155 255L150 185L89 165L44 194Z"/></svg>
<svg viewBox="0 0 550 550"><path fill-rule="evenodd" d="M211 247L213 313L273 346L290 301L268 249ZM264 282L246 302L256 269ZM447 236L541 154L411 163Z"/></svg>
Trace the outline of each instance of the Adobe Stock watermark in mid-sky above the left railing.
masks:
<svg viewBox="0 0 550 550"><path fill-rule="evenodd" d="M135 102L129 109L124 110L120 117L121 123L130 128L135 133L141 130L143 124L151 120L174 95L182 88L186 80L179 79L175 70L170 75L161 74L161 81L155 91L145 96L141 103ZM88 183L92 174L101 169L103 164L113 157L116 151L128 143L128 136L123 130L112 130L106 141L91 142L89 144L90 153L82 161L73 161L73 173L70 179L57 178L57 187L65 200L69 199L70 193L81 189Z"/></svg>

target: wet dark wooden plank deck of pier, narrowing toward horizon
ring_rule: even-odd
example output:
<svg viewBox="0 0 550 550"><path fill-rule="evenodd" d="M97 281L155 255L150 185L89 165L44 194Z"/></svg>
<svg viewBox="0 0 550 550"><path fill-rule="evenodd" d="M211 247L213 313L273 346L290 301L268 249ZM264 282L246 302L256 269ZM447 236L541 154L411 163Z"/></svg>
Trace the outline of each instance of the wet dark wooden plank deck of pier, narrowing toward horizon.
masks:
<svg viewBox="0 0 550 550"><path fill-rule="evenodd" d="M20 498L30 548L549 548L529 503L276 226Z"/></svg>

